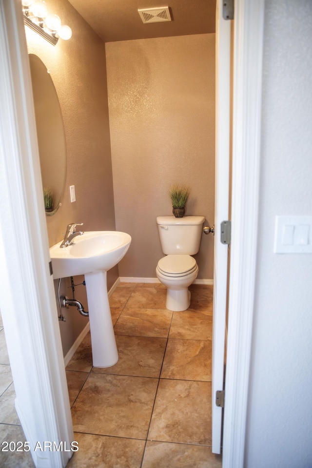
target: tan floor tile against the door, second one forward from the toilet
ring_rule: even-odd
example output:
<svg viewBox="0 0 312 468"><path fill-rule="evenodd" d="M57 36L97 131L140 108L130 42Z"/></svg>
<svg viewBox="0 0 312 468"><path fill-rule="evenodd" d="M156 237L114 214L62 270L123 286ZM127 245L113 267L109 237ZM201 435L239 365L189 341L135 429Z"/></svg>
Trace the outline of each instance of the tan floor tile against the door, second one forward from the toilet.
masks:
<svg viewBox="0 0 312 468"><path fill-rule="evenodd" d="M211 382L211 353L211 341L169 339L161 377Z"/></svg>

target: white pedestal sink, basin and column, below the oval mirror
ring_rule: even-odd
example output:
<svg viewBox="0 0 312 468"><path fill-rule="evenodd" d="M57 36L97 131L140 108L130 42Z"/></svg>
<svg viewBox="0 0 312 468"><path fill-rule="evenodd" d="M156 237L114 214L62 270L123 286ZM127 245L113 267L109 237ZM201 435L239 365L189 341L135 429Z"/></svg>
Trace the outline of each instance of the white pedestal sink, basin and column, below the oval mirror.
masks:
<svg viewBox="0 0 312 468"><path fill-rule="evenodd" d="M84 274L94 367L110 367L118 361L115 333L107 294L106 272L123 258L131 236L118 231L89 231L74 243L50 248L53 278Z"/></svg>

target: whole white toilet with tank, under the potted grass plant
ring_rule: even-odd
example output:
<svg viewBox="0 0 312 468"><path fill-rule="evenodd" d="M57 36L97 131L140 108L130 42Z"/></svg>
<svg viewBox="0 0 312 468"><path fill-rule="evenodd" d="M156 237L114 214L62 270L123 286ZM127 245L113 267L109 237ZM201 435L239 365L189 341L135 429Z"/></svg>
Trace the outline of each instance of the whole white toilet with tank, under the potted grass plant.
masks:
<svg viewBox="0 0 312 468"><path fill-rule="evenodd" d="M196 279L198 266L191 255L199 251L204 216L157 216L161 249L156 276L167 288L166 308L185 311L190 306L189 286Z"/></svg>

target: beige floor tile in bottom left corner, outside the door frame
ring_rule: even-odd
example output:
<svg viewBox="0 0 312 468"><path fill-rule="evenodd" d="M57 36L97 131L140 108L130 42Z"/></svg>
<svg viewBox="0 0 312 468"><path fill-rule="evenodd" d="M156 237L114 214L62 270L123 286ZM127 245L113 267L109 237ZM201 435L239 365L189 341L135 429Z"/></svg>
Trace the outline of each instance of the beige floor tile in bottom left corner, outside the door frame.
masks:
<svg viewBox="0 0 312 468"><path fill-rule="evenodd" d="M0 424L0 441L24 442L26 441L23 429L20 426L11 426L9 424ZM35 467L29 451L17 452L0 451L1 468L33 468Z"/></svg>

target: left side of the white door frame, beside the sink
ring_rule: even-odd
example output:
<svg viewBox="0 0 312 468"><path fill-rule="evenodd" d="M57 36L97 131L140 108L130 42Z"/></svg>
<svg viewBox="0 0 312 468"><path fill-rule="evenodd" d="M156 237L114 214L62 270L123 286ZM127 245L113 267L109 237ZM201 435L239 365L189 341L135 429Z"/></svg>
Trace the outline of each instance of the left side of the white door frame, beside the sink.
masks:
<svg viewBox="0 0 312 468"><path fill-rule="evenodd" d="M30 69L19 0L0 0L0 307L15 406L36 467L74 440L59 333ZM16 441L17 442L17 441ZM62 451L41 450L62 442ZM27 445L25 446L27 449ZM65 450L64 450L65 448Z"/></svg>

